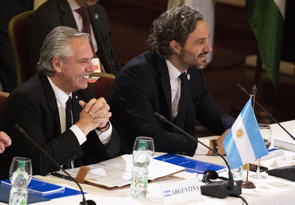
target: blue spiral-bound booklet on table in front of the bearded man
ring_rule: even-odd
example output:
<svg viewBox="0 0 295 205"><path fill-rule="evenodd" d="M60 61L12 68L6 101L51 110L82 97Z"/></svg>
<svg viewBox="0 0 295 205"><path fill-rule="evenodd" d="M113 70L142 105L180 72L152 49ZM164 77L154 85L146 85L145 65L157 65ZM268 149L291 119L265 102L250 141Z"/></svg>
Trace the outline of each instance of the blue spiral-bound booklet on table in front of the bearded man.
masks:
<svg viewBox="0 0 295 205"><path fill-rule="evenodd" d="M203 173L206 170L214 170L217 173L227 170L226 165L205 162L197 159L183 157L179 155L166 154L155 158L159 161L168 162L185 168L185 172Z"/></svg>

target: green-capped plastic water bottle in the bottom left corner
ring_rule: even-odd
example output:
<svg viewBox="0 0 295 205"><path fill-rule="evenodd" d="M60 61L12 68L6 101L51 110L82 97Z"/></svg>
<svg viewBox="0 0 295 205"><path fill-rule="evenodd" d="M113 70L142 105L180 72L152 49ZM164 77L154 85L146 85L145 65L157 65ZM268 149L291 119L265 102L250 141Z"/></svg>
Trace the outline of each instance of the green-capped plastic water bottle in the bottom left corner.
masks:
<svg viewBox="0 0 295 205"><path fill-rule="evenodd" d="M10 190L10 205L26 205L29 185L29 175L25 169L26 162L18 161L17 169L14 171L10 181L12 188Z"/></svg>

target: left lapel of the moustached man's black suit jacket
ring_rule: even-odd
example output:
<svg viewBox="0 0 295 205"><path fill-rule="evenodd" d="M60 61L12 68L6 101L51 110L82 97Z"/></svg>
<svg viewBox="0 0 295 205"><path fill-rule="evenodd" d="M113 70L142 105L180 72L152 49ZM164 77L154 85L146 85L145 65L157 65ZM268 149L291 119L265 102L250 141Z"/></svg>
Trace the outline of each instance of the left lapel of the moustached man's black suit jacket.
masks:
<svg viewBox="0 0 295 205"><path fill-rule="evenodd" d="M51 110L58 132L61 133L61 121L59 118L59 111L58 111L54 91L49 83L47 76L40 74L40 80L44 89L47 105L49 109Z"/></svg>

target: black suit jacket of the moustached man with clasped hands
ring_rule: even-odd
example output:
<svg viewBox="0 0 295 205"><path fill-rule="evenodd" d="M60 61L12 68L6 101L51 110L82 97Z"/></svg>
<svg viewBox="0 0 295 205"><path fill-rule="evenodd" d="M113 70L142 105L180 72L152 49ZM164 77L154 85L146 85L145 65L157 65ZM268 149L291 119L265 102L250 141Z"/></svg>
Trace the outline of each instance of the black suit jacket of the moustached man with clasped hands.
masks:
<svg viewBox="0 0 295 205"><path fill-rule="evenodd" d="M85 90L72 93L73 124L79 120L82 110L79 100L88 102L93 97L90 85ZM15 124L24 129L60 165L68 159L75 159L75 167L89 165L119 154L120 139L114 128L107 147L104 147L95 131L89 132L81 146L70 129L61 134L56 97L44 75L36 74L14 89L6 100L1 117L3 131L11 137L12 144L0 155L0 179L8 178L12 158L16 156L32 160L33 174L46 175L58 170L46 155L14 129Z"/></svg>

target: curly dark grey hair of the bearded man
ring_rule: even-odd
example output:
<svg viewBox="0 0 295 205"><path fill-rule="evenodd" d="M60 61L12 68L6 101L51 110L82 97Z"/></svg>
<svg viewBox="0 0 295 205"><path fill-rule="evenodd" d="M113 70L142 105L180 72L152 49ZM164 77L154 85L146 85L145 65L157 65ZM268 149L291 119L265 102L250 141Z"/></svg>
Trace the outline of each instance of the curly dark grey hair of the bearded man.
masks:
<svg viewBox="0 0 295 205"><path fill-rule="evenodd" d="M146 41L149 50L155 51L162 58L170 59L174 53L170 42L175 40L183 46L198 21L204 21L199 9L181 6L167 10L153 22L151 34Z"/></svg>

